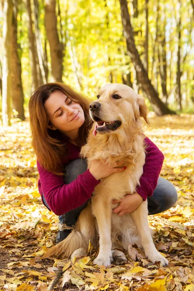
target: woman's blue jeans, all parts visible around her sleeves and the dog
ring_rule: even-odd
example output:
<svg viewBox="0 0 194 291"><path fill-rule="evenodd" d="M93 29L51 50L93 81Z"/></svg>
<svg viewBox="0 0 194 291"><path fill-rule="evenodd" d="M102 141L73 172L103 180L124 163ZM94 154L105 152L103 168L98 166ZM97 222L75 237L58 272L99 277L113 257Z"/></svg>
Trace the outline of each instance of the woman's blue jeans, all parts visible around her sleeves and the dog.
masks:
<svg viewBox="0 0 194 291"><path fill-rule="evenodd" d="M84 173L87 170L86 160L77 159L69 162L65 167L65 184L69 184L74 181L78 175ZM149 214L161 213L177 202L177 191L172 183L164 178L158 179L158 184L151 197L147 197L148 212ZM43 195L44 203L47 202ZM78 216L87 205L87 201L80 207L71 210L63 215L59 216L61 223L65 223L66 226L72 226L76 223Z"/></svg>

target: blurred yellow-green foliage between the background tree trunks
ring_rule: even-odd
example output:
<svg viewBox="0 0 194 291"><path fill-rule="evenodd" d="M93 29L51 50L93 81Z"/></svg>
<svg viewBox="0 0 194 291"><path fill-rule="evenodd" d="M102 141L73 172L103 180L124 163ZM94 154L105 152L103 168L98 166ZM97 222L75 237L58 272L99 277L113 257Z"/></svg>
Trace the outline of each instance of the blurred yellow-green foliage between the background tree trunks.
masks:
<svg viewBox="0 0 194 291"><path fill-rule="evenodd" d="M182 0L181 0L182 1ZM44 3L39 0L39 29L42 46L45 47L45 11ZM60 15L58 9L60 6ZM157 5L158 8L157 8ZM138 1L138 17L133 17L133 6L129 2L129 13L134 30L135 44L142 62L145 64L146 13L145 1ZM158 10L158 11L157 11ZM33 13L33 5L32 5ZM194 50L192 46L193 10L190 0L161 0L148 2L148 75L162 96L162 79L159 73L160 54L165 50L167 72L167 94L170 107L178 109L176 97L177 50L178 50L178 16L181 17L181 93L183 110L190 110L194 97ZM1 13L2 15L2 13ZM125 37L123 35L120 4L118 0L58 0L56 2L57 28L59 39L65 44L63 81L83 91L89 97L96 96L98 89L105 83L123 82L130 72L131 81L136 81L134 67L127 55ZM18 44L22 64L22 81L25 100L32 92L32 68L29 53L28 16L26 3L18 1ZM32 15L34 19L34 15ZM158 31L157 31L158 21ZM157 31L157 39L156 38ZM0 37L2 36L2 17L0 17ZM162 41L165 36L166 45ZM51 59L49 44L47 45L49 80ZM0 57L2 50L0 49ZM0 58L1 60L1 58ZM154 65L152 66L154 62ZM186 97L184 97L186 94Z"/></svg>

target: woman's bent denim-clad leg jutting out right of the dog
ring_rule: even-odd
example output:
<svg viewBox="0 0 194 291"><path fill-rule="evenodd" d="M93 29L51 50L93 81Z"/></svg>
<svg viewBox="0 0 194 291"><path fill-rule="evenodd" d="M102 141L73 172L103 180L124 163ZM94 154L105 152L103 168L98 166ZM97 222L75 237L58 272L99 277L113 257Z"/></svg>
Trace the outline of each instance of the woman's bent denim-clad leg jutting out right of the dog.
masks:
<svg viewBox="0 0 194 291"><path fill-rule="evenodd" d="M161 213L175 205L178 196L175 186L164 178L158 179L158 184L151 197L147 197L148 213Z"/></svg>

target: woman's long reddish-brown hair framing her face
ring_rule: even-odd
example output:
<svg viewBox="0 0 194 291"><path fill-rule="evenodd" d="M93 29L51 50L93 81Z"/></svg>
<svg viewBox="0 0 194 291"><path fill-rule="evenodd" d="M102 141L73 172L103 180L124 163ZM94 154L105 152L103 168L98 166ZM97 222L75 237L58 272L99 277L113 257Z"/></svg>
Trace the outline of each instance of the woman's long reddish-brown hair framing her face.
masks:
<svg viewBox="0 0 194 291"><path fill-rule="evenodd" d="M37 160L47 171L56 175L63 175L62 158L67 154L62 141L62 133L48 128L49 117L45 111L44 104L54 91L61 91L72 101L79 103L83 109L85 121L79 129L81 146L86 143L89 130L93 122L87 119L89 111L89 100L80 92L72 89L64 83L48 83L39 86L33 93L29 101L30 125L32 130L32 146L37 156ZM66 139L67 141L67 139Z"/></svg>

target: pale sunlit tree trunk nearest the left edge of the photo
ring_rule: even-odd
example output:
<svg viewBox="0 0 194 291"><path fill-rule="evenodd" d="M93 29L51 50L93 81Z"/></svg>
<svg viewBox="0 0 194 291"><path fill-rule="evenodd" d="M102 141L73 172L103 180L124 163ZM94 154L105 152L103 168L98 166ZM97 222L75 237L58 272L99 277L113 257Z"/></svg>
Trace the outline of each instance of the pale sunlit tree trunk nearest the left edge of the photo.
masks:
<svg viewBox="0 0 194 291"><path fill-rule="evenodd" d="M12 0L4 0L3 7L3 44L4 56L2 63L2 121L3 126L10 126L11 122L11 26L13 5Z"/></svg>

